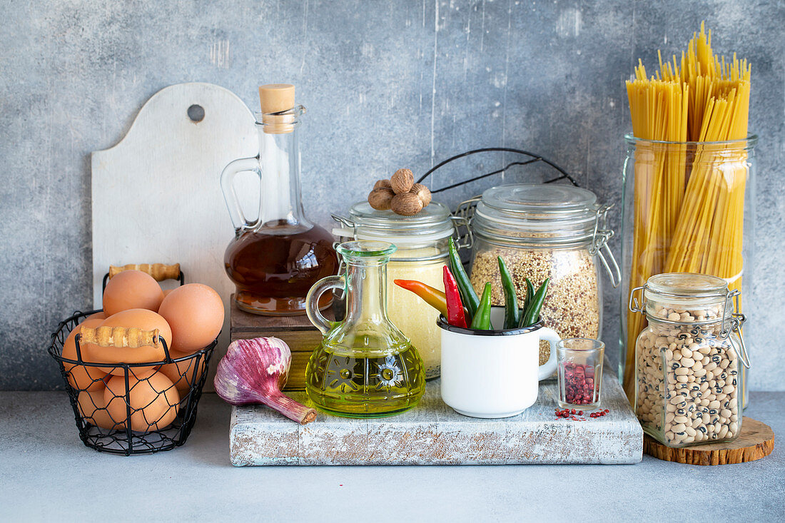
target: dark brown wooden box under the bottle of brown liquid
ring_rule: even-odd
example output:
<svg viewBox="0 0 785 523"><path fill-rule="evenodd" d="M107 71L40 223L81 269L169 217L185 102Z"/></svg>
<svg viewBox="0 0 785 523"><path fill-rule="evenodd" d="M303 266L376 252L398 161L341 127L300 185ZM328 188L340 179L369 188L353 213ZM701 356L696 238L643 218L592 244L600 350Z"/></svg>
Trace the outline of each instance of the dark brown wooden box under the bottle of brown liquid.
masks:
<svg viewBox="0 0 785 523"><path fill-rule="evenodd" d="M305 365L313 349L322 342L322 333L313 326L308 316L260 316L239 309L232 294L229 309L229 338L249 339L274 336L283 339L292 351L289 380L283 390L305 390ZM332 320L332 310L322 312Z"/></svg>

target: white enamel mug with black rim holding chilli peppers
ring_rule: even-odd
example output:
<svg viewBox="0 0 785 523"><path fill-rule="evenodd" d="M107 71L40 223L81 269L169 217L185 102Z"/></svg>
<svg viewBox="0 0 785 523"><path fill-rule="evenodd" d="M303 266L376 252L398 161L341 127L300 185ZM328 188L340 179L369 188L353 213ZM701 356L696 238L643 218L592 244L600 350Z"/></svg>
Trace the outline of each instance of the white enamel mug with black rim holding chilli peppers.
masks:
<svg viewBox="0 0 785 523"><path fill-rule="evenodd" d="M503 323L504 308L491 309L491 324ZM537 400L539 382L556 370L556 331L541 324L508 330L473 331L436 321L441 329L441 396L473 418L509 418ZM539 341L550 342L550 358L539 364Z"/></svg>

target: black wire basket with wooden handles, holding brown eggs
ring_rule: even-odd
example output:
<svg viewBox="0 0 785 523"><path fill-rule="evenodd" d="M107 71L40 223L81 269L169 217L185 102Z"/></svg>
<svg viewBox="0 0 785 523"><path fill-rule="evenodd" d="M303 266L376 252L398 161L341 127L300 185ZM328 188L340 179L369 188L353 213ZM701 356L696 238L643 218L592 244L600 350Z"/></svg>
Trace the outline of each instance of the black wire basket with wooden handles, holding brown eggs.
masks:
<svg viewBox="0 0 785 523"><path fill-rule="evenodd" d="M87 361L82 335L71 338L68 333L88 316L100 312L76 312L61 321L49 346L49 354L57 360L66 383L79 437L87 447L122 455L151 454L184 444L196 421L196 408L217 339L186 357L173 358L166 341L159 336L166 355L160 361ZM76 356L64 357L64 346L71 341ZM177 369L176 379L162 379L163 373L152 369L165 365Z"/></svg>

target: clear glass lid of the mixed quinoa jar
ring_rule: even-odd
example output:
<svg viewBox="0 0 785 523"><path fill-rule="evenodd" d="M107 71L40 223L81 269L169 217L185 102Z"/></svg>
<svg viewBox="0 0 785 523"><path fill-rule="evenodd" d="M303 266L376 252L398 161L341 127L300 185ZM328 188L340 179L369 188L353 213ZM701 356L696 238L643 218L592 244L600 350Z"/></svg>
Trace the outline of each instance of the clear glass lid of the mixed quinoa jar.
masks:
<svg viewBox="0 0 785 523"><path fill-rule="evenodd" d="M593 192L572 185L499 185L483 192L472 228L491 240L592 241L600 208Z"/></svg>

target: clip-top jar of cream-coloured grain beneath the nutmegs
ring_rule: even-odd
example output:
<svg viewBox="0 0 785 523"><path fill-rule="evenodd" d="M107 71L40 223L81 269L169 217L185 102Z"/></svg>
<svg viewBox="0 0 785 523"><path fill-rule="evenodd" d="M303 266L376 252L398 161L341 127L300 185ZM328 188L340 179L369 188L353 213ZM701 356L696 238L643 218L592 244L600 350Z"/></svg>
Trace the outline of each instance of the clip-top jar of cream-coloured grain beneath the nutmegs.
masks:
<svg viewBox="0 0 785 523"><path fill-rule="evenodd" d="M387 265L387 315L420 353L425 379L438 378L441 335L436 318L439 312L393 281L418 280L444 289L442 268L447 261L447 239L457 234L462 219L451 216L450 210L438 202L431 202L414 216L374 210L367 202L360 202L349 208L349 218L336 215L333 218L341 224L333 229L341 241L380 240L398 247Z"/></svg>

